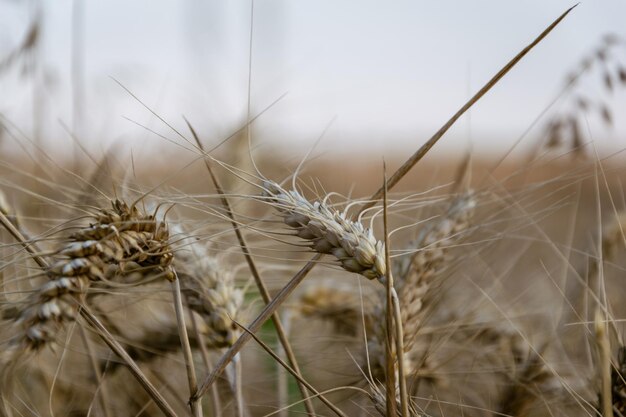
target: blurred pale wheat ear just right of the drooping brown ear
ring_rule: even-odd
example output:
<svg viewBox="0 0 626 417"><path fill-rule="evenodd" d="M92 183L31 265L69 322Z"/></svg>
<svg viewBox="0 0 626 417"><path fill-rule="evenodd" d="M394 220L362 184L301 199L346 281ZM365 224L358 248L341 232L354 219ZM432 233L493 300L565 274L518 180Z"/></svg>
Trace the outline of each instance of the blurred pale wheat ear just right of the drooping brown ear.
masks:
<svg viewBox="0 0 626 417"><path fill-rule="evenodd" d="M206 322L210 348L231 346L241 334L235 321L243 315L244 292L235 285L233 271L194 242L177 254L176 268L187 305Z"/></svg>

